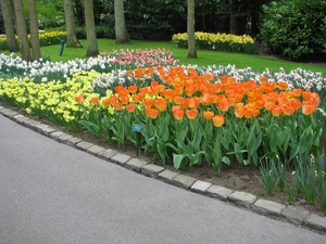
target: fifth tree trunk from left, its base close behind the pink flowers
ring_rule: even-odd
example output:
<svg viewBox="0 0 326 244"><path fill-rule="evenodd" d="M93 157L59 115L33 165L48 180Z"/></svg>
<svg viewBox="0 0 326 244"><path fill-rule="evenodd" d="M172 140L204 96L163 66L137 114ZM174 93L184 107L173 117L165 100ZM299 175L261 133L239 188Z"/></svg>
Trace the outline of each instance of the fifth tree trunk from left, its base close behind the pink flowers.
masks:
<svg viewBox="0 0 326 244"><path fill-rule="evenodd" d="M87 53L86 56L97 56L99 54L96 26L93 20L93 3L92 0L84 0L85 5L85 22L87 35Z"/></svg>

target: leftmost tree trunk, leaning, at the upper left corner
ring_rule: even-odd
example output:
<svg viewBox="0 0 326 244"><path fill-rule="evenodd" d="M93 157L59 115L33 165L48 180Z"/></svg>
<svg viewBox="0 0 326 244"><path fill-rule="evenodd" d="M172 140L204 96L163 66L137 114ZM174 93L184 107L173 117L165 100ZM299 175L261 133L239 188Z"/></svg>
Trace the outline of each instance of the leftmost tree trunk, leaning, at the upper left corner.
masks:
<svg viewBox="0 0 326 244"><path fill-rule="evenodd" d="M10 2L9 0L1 0L0 5L3 15L8 49L10 52L17 52L20 51L20 47L15 38L15 28L13 25L13 20L12 20L13 14L11 12Z"/></svg>

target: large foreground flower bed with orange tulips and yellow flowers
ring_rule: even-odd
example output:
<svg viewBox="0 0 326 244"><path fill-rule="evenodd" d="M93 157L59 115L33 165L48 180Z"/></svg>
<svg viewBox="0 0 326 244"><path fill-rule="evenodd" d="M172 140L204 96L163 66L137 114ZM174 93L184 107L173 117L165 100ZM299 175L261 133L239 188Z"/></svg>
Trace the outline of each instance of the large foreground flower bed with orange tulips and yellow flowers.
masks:
<svg viewBox="0 0 326 244"><path fill-rule="evenodd" d="M258 74L231 65L162 66L156 61L156 66L135 68L138 57L129 62L130 53L123 50L72 61L72 66L80 67L77 65L65 79L47 82L24 77L22 68L21 77L8 75L0 80L0 101L72 131L87 129L111 144L124 146L129 141L179 169L206 164L220 174L230 164L251 165L261 168L268 189L268 182L285 185L281 169L286 168L296 170L296 188L309 203L315 197L311 192L325 192L325 156L318 157L325 137L322 74L302 69ZM111 66L105 66L104 57ZM35 64L25 67L30 68L28 65ZM53 64L39 65L36 70ZM102 65L103 70L110 67L111 72L100 72ZM98 67L99 72L87 67ZM14 72L8 74L14 76ZM271 172L276 174L277 181ZM309 178L310 172L313 178ZM310 181L305 183L305 179ZM315 187L309 190L312 181ZM326 198L325 194L322 197Z"/></svg>

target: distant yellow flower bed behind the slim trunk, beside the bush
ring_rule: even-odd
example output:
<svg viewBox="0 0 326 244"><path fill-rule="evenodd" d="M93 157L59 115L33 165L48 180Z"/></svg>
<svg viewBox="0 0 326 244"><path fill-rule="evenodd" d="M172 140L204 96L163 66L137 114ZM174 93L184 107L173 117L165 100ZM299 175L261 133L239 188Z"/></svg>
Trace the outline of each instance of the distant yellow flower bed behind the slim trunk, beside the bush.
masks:
<svg viewBox="0 0 326 244"><path fill-rule="evenodd" d="M248 36L236 36L231 34L210 34L195 33L196 47L198 49L209 49L223 52L256 53L254 40ZM178 48L188 47L188 35L175 34L172 37L172 43Z"/></svg>

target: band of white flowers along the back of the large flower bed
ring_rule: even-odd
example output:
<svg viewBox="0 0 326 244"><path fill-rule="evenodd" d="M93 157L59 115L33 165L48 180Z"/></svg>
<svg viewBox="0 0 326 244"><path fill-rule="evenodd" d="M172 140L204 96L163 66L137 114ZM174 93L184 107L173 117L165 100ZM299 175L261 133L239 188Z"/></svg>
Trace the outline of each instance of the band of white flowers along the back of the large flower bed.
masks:
<svg viewBox="0 0 326 244"><path fill-rule="evenodd" d="M118 55L118 52L115 53ZM63 62L49 62L39 61L26 62L20 56L12 53L5 55L0 54L0 77L12 77L17 76L20 79L24 77L33 78L34 81L50 81L50 80L65 80L73 74L85 70L96 70L103 73L103 75L95 80L93 85L109 88L112 84L125 84L133 82L131 79L126 75L126 69L130 66L125 64L120 65L116 63L117 57L113 55L98 55L97 57L90 59L75 59L66 63ZM172 65L174 66L174 65ZM184 67L192 67L199 74L214 74L215 81L218 81L220 76L228 75L236 77L238 82L246 80L254 80L260 82L262 76L267 78L267 81L285 81L288 84L289 89L302 88L304 90L313 91L325 91L326 90L326 77L322 73L313 73L302 68L292 69L286 72L280 68L279 72L272 72L268 68L258 73L252 70L251 67L236 68L235 65L212 65L208 67L199 67L197 65L184 65ZM166 65L165 68L171 67ZM158 75L158 73L155 73ZM158 76L156 76L158 77ZM142 79L151 77L142 77ZM141 80L140 80L141 81Z"/></svg>

